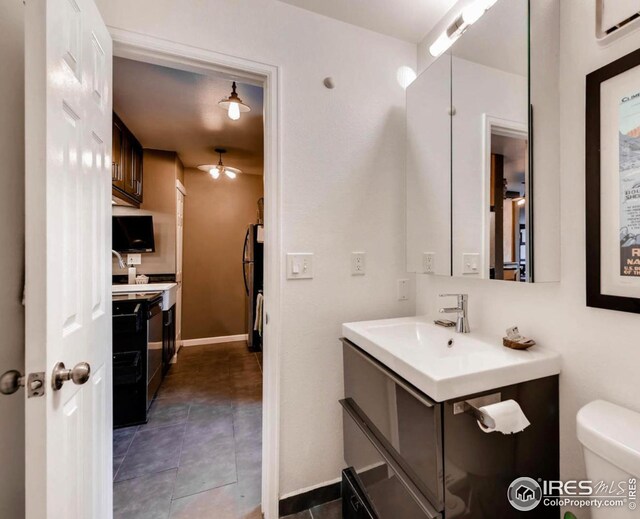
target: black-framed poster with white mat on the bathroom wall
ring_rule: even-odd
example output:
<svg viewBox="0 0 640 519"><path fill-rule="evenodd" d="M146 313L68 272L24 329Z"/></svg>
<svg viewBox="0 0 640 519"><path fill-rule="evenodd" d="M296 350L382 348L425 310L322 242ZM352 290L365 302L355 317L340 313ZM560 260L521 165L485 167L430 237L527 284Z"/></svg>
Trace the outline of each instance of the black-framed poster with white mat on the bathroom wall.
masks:
<svg viewBox="0 0 640 519"><path fill-rule="evenodd" d="M640 313L640 50L586 89L587 306Z"/></svg>

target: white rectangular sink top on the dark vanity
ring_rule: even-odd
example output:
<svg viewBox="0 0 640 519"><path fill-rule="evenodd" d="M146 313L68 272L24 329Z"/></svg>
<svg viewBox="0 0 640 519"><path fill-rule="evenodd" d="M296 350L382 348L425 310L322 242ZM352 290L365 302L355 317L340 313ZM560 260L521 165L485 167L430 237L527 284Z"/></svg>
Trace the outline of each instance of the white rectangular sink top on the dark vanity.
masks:
<svg viewBox="0 0 640 519"><path fill-rule="evenodd" d="M425 317L346 323L342 334L438 402L560 373L552 350L512 350L500 337L456 333Z"/></svg>

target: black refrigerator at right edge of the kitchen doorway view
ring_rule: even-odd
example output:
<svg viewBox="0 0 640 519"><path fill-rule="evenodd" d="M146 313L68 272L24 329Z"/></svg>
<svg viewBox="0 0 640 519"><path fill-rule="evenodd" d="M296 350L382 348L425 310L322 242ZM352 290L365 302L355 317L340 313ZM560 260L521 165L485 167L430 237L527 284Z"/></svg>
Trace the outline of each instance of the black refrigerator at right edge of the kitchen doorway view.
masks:
<svg viewBox="0 0 640 519"><path fill-rule="evenodd" d="M264 227L251 224L244 237L242 271L246 297L247 344L249 351L262 351L262 298L264 289Z"/></svg>

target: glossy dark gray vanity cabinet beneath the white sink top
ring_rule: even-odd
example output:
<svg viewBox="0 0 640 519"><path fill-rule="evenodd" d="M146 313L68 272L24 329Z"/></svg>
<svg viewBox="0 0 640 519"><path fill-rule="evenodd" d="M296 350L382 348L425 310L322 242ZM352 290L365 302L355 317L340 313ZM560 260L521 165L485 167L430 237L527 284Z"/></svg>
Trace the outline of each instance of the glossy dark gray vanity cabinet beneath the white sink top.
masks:
<svg viewBox="0 0 640 519"><path fill-rule="evenodd" d="M557 376L436 402L346 339L343 359L345 518L521 517L506 498L511 482L559 479ZM454 403L496 392L520 404L527 429L488 434L470 414L454 414Z"/></svg>

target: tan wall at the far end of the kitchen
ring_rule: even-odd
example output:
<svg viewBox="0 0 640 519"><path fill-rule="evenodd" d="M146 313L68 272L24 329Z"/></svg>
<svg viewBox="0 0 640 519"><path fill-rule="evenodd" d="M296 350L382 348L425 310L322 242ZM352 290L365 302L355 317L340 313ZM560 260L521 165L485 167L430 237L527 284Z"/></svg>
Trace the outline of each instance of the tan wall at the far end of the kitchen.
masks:
<svg viewBox="0 0 640 519"><path fill-rule="evenodd" d="M246 333L242 246L257 220L263 178L214 181L185 169L183 339Z"/></svg>

